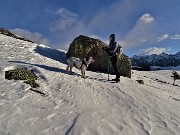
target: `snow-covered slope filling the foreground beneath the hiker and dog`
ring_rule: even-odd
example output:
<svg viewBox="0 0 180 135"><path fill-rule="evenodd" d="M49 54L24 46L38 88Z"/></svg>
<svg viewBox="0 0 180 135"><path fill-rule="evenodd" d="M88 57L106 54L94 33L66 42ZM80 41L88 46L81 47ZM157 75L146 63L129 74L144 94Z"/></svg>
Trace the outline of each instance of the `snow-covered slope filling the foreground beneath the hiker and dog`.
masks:
<svg viewBox="0 0 180 135"><path fill-rule="evenodd" d="M41 96L4 71L32 69ZM105 82L65 72L65 53L0 35L0 135L179 135L180 87L170 71L133 71L132 79ZM110 76L111 78L113 76ZM144 85L135 80L144 80ZM176 82L180 85L180 81Z"/></svg>

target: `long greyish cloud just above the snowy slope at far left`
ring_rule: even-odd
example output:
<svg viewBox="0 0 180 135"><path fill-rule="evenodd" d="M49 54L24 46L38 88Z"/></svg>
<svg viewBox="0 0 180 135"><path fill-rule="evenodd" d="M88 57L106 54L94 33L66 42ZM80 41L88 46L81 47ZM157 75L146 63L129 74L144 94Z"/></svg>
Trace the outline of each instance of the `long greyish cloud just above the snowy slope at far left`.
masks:
<svg viewBox="0 0 180 135"><path fill-rule="evenodd" d="M42 34L38 32L30 32L25 29L15 28L10 30L12 33L34 41L35 43L48 44L49 40L44 38Z"/></svg>

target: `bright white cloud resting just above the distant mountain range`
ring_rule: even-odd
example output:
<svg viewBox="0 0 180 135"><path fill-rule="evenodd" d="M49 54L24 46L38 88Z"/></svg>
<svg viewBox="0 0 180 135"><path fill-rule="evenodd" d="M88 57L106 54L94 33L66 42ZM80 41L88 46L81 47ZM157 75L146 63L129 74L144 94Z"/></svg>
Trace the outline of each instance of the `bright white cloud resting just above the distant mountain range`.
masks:
<svg viewBox="0 0 180 135"><path fill-rule="evenodd" d="M167 48L157 48L157 47L151 47L151 48L147 48L147 49L141 49L139 51L139 55L140 56L144 56L144 55L151 55L151 54L161 54L163 52L167 52L170 51L170 49Z"/></svg>

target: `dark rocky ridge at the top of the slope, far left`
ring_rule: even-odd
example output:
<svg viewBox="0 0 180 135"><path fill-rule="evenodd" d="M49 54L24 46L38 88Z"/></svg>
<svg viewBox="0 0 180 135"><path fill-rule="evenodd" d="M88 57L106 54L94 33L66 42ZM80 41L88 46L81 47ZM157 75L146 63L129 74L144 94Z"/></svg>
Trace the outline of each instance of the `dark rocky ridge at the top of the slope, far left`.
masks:
<svg viewBox="0 0 180 135"><path fill-rule="evenodd" d="M9 36L9 37L12 37L12 38L20 39L20 40L23 40L23 41L34 43L33 41L31 41L29 39L25 39L23 37L16 36L16 35L14 35L13 33L11 33L10 31L8 31L8 30L6 30L4 28L0 28L0 34L6 35L6 36Z"/></svg>

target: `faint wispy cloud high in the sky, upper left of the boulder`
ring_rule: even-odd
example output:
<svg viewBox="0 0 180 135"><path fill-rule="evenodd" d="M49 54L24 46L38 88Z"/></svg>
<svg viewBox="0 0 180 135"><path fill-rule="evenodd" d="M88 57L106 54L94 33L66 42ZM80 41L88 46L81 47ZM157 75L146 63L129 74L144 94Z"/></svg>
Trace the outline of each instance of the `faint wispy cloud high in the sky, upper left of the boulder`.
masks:
<svg viewBox="0 0 180 135"><path fill-rule="evenodd" d="M51 31L66 30L79 23L78 15L66 8L60 8L55 15L58 19L52 24Z"/></svg>

